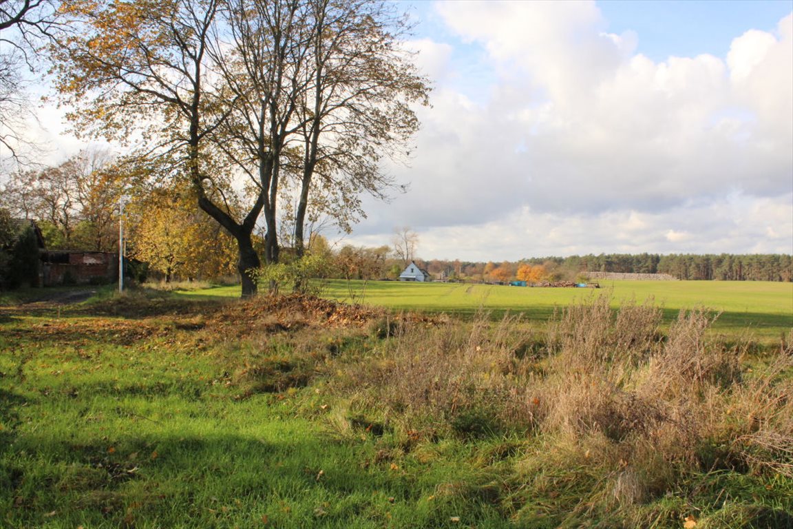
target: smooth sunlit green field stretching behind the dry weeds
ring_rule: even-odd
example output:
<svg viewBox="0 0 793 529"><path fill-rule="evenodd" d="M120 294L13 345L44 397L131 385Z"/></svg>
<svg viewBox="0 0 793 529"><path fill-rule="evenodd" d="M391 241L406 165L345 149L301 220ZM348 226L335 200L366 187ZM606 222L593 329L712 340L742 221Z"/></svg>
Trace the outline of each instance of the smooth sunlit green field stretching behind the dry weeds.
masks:
<svg viewBox="0 0 793 529"><path fill-rule="evenodd" d="M473 316L479 310L499 319L520 313L544 323L554 311L588 297L607 295L614 307L634 300L652 301L664 309L668 324L680 310L706 308L721 315L713 328L733 337L749 334L764 343L778 343L793 328L793 283L717 281L608 281L601 289L530 288L455 283L346 282L324 283L321 295L343 302L387 309L446 312ZM238 297L239 287L183 291L190 297Z"/></svg>

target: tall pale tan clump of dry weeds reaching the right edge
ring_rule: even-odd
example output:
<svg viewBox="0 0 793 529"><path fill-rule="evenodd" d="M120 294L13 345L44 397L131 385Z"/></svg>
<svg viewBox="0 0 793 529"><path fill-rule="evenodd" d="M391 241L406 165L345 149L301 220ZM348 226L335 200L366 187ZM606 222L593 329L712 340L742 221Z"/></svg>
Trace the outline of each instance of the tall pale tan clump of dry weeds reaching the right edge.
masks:
<svg viewBox="0 0 793 529"><path fill-rule="evenodd" d="M629 303L614 312L600 297L550 324L556 354L524 394L534 395L534 420L553 448L531 468L588 480L596 492L577 491L570 519L664 496L691 472L791 475L791 351L744 380L741 348L709 336L713 320L681 312L661 339L660 310Z"/></svg>

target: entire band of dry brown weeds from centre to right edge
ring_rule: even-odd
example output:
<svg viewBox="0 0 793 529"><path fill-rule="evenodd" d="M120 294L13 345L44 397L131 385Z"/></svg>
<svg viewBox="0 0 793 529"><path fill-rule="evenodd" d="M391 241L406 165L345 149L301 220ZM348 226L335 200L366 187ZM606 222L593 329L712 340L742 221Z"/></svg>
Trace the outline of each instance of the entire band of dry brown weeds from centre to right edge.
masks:
<svg viewBox="0 0 793 529"><path fill-rule="evenodd" d="M665 335L652 302L609 302L558 313L544 346L509 316L404 324L341 370L338 389L351 395L348 414L377 416L404 438L534 439L517 486L559 498L569 527L615 510L649 527L669 515L641 506L694 473L793 476L790 340L747 370L745 348L711 335L717 316L706 310L680 312ZM531 525L546 514L533 505L515 517Z"/></svg>

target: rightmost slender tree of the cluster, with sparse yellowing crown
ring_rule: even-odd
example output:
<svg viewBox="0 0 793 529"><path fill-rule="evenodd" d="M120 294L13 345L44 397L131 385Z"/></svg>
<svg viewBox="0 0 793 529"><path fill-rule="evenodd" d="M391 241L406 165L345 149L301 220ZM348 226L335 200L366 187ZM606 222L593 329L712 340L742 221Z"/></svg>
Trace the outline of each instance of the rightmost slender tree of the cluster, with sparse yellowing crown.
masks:
<svg viewBox="0 0 793 529"><path fill-rule="evenodd" d="M295 245L301 255L310 195L349 230L363 215L358 196L385 199L393 180L381 171L383 155L401 159L419 122L412 104L427 104L428 88L410 54L400 50L408 19L393 2L309 0L311 62L298 106L302 165ZM319 179L319 182L317 182ZM318 193L319 191L319 193ZM330 206L328 208L328 205Z"/></svg>

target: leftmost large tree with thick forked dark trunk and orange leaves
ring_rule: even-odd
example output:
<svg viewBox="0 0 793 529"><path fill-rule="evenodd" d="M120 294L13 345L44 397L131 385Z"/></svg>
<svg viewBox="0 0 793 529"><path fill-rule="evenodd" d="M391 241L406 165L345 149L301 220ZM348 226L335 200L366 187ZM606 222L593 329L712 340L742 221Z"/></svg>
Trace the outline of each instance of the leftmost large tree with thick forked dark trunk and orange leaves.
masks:
<svg viewBox="0 0 793 529"><path fill-rule="evenodd" d="M207 50L220 38L222 7L219 0L74 0L65 6L73 33L52 55L56 86L75 108L70 117L79 131L135 137L143 163L166 160L159 164L165 174L190 182L198 207L236 240L246 297L256 292L251 272L260 261L251 234L265 196L255 194L234 215L215 193L227 174L208 159L223 147L209 145L208 136L228 117L229 92Z"/></svg>

